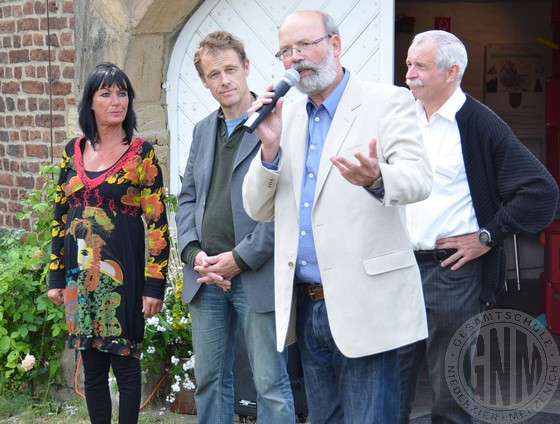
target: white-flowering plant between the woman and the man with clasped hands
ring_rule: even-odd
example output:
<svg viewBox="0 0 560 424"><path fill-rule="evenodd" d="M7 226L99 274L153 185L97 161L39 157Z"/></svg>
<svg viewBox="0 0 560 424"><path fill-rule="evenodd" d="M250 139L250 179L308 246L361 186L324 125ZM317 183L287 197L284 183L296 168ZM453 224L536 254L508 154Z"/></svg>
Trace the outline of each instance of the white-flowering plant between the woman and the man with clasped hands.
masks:
<svg viewBox="0 0 560 424"><path fill-rule="evenodd" d="M177 208L177 198L166 198L168 221ZM142 370L147 372L164 371L171 378L171 393L168 402L175 399L174 393L181 388L194 389L194 355L192 347L191 317L188 305L181 300L183 288L183 265L177 249L177 237L171 228L169 272L163 308L160 313L146 320L144 341L142 343Z"/></svg>

